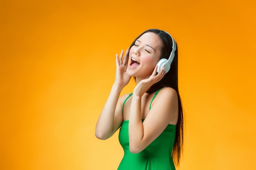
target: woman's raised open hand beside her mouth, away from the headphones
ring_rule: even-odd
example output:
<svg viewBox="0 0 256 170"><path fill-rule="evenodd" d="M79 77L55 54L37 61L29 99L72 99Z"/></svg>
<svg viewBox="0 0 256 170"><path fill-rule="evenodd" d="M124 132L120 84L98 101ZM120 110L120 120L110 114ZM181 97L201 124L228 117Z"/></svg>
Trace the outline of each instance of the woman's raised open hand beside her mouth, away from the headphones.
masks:
<svg viewBox="0 0 256 170"><path fill-rule="evenodd" d="M116 76L115 76L115 84L124 87L126 86L129 81L131 76L127 75L126 73L126 68L128 66L128 49L126 50L126 53L124 55L124 50L121 51L120 56L116 54Z"/></svg>

